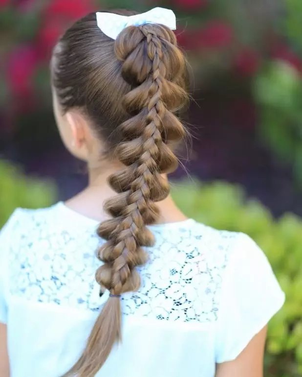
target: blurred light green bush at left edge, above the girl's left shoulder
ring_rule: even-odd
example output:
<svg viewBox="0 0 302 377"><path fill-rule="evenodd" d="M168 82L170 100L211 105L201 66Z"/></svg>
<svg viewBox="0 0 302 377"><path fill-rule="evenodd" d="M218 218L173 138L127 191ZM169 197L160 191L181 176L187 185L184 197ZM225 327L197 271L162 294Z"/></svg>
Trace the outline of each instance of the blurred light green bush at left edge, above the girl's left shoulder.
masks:
<svg viewBox="0 0 302 377"><path fill-rule="evenodd" d="M25 177L21 170L4 161L0 161L0 193L0 228L15 208L47 207L56 197L51 182Z"/></svg>

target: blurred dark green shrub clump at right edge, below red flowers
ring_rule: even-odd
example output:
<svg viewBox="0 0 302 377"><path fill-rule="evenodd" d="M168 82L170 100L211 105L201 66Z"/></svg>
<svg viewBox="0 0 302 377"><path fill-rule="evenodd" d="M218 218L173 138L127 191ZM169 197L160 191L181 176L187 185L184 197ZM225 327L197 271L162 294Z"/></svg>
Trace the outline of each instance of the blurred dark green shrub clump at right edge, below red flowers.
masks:
<svg viewBox="0 0 302 377"><path fill-rule="evenodd" d="M255 81L259 135L302 187L302 79L292 66L272 62Z"/></svg>

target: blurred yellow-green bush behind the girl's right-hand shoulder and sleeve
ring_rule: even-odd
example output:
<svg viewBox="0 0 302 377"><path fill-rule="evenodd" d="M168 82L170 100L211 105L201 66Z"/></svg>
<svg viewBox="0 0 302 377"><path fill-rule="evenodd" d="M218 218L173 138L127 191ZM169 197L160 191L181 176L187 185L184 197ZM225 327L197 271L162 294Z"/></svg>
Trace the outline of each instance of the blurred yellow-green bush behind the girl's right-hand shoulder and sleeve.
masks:
<svg viewBox="0 0 302 377"><path fill-rule="evenodd" d="M175 184L173 198L187 216L217 229L244 232L267 255L286 294L286 304L268 330L265 376L302 374L302 219L280 219L244 190L228 183Z"/></svg>

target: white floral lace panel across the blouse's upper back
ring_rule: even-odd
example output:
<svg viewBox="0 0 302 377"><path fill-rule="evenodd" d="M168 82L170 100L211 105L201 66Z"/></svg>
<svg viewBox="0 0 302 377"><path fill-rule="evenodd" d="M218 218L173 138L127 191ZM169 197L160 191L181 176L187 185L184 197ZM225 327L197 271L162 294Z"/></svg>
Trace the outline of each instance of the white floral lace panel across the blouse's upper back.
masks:
<svg viewBox="0 0 302 377"><path fill-rule="evenodd" d="M95 250L102 240L96 223L49 209L18 210L9 252L10 292L26 300L100 310ZM81 221L82 220L82 221ZM173 225L173 226L170 226ZM138 267L142 286L122 297L125 315L170 321L217 319L223 272L236 233L216 231L193 220L154 226L156 245ZM106 296L106 295L104 295Z"/></svg>

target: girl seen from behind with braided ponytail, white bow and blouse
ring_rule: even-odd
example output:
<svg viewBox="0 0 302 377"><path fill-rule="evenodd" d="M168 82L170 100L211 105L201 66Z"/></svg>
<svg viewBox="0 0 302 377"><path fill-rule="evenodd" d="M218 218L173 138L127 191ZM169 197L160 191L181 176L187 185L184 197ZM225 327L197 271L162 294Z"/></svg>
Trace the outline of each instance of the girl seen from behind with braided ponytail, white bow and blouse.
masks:
<svg viewBox="0 0 302 377"><path fill-rule="evenodd" d="M169 196L187 99L174 28L161 8L89 14L54 49L56 121L89 185L2 229L1 377L262 376L284 301L267 259Z"/></svg>

